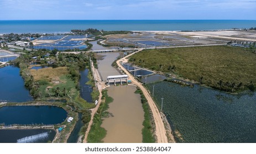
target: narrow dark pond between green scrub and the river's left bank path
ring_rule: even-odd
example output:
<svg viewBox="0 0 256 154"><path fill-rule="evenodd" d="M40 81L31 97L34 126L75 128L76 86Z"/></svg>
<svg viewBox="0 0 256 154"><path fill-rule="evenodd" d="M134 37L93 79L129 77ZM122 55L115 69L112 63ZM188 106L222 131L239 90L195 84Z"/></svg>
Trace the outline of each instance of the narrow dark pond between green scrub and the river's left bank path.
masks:
<svg viewBox="0 0 256 154"><path fill-rule="evenodd" d="M92 86L91 85L87 85L86 83L90 80L88 78L88 73L89 70L88 69L80 69L80 96L86 100L87 102L92 102Z"/></svg>

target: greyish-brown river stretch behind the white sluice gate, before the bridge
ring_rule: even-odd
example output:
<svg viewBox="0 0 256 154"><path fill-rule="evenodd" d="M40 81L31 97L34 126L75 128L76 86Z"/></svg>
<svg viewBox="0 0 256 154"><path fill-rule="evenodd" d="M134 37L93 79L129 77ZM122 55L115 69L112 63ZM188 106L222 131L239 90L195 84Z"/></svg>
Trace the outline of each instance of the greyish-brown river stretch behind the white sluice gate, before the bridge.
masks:
<svg viewBox="0 0 256 154"><path fill-rule="evenodd" d="M97 60L98 72L101 75L103 81L107 80L109 75L120 75L116 68L113 68L111 64L117 59L121 52L103 52L97 53L98 56L102 57Z"/></svg>

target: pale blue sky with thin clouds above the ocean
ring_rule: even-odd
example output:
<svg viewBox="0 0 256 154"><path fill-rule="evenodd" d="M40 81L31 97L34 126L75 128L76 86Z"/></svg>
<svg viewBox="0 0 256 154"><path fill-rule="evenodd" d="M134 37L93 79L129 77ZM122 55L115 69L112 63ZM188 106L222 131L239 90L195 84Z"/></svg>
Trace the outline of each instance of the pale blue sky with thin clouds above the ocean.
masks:
<svg viewBox="0 0 256 154"><path fill-rule="evenodd" d="M250 0L0 0L0 20L252 19Z"/></svg>

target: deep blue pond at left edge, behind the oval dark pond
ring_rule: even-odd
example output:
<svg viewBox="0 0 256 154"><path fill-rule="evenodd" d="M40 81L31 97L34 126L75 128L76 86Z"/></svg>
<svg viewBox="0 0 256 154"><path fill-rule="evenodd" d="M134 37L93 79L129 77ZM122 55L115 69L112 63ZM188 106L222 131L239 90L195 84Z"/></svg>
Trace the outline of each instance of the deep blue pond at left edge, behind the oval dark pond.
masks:
<svg viewBox="0 0 256 154"><path fill-rule="evenodd" d="M8 65L0 68L0 102L33 101L29 90L24 86L24 80L19 75L19 68Z"/></svg>

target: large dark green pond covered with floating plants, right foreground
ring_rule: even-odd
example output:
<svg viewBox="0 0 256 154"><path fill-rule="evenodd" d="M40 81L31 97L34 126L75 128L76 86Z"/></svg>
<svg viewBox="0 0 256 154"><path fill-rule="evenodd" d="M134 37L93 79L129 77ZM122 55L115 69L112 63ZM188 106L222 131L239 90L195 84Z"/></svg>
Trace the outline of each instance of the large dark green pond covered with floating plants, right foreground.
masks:
<svg viewBox="0 0 256 154"><path fill-rule="evenodd" d="M256 142L256 94L230 95L195 85L148 84L178 142Z"/></svg>

